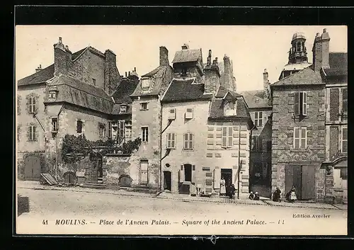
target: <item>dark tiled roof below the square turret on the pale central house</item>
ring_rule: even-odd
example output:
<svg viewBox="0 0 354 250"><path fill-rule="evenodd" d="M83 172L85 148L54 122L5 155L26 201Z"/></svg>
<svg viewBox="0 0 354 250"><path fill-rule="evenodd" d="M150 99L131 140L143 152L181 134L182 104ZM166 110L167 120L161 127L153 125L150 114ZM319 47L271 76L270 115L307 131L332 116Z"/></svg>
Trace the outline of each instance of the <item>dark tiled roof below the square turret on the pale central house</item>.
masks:
<svg viewBox="0 0 354 250"><path fill-rule="evenodd" d="M194 78L173 79L162 102L210 100L212 94L204 94L204 84L193 84Z"/></svg>

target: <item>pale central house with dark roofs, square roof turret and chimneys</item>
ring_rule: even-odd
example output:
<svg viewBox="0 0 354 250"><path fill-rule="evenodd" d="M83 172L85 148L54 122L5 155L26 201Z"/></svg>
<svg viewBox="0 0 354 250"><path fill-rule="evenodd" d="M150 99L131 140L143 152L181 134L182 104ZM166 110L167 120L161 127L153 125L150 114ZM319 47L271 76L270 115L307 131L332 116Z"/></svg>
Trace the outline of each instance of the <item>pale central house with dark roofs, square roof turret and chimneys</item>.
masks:
<svg viewBox="0 0 354 250"><path fill-rule="evenodd" d="M222 176L227 189L232 183L238 188L239 176L241 193L249 192L253 123L244 98L223 86L234 81L220 84L217 58L211 62L211 53L202 67L202 51L183 45L173 59L174 78L161 99L162 180L164 189L173 193L195 193L197 188L218 192ZM231 67L225 61L224 67Z"/></svg>

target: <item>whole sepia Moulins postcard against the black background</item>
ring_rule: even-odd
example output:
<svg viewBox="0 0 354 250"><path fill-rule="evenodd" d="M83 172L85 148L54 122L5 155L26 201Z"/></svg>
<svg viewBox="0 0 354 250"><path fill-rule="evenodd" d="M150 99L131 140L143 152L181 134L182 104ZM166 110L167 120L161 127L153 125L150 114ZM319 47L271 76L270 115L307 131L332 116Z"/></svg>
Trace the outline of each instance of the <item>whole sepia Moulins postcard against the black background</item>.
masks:
<svg viewBox="0 0 354 250"><path fill-rule="evenodd" d="M343 25L16 25L16 234L347 235Z"/></svg>

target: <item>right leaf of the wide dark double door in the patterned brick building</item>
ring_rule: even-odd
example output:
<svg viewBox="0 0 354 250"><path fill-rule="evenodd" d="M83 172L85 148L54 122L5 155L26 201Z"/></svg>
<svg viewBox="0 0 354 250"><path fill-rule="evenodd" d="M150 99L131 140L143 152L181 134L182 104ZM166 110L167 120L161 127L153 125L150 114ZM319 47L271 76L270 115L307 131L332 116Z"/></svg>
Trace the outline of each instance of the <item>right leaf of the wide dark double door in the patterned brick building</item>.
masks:
<svg viewBox="0 0 354 250"><path fill-rule="evenodd" d="M312 200L315 193L315 167L311 165L302 166L302 200Z"/></svg>

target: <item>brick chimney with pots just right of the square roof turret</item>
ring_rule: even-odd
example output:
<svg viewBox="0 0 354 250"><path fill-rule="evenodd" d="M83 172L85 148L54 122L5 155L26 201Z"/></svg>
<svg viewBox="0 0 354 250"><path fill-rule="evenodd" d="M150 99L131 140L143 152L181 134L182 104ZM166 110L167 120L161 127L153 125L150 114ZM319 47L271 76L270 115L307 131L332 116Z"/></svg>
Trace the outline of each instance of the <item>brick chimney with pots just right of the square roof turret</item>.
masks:
<svg viewBox="0 0 354 250"><path fill-rule="evenodd" d="M212 50L209 50L209 54L207 57L207 66L204 68L204 93L215 94L220 86L220 72L219 67L217 66L217 57L212 60L212 64L210 64L211 58Z"/></svg>

